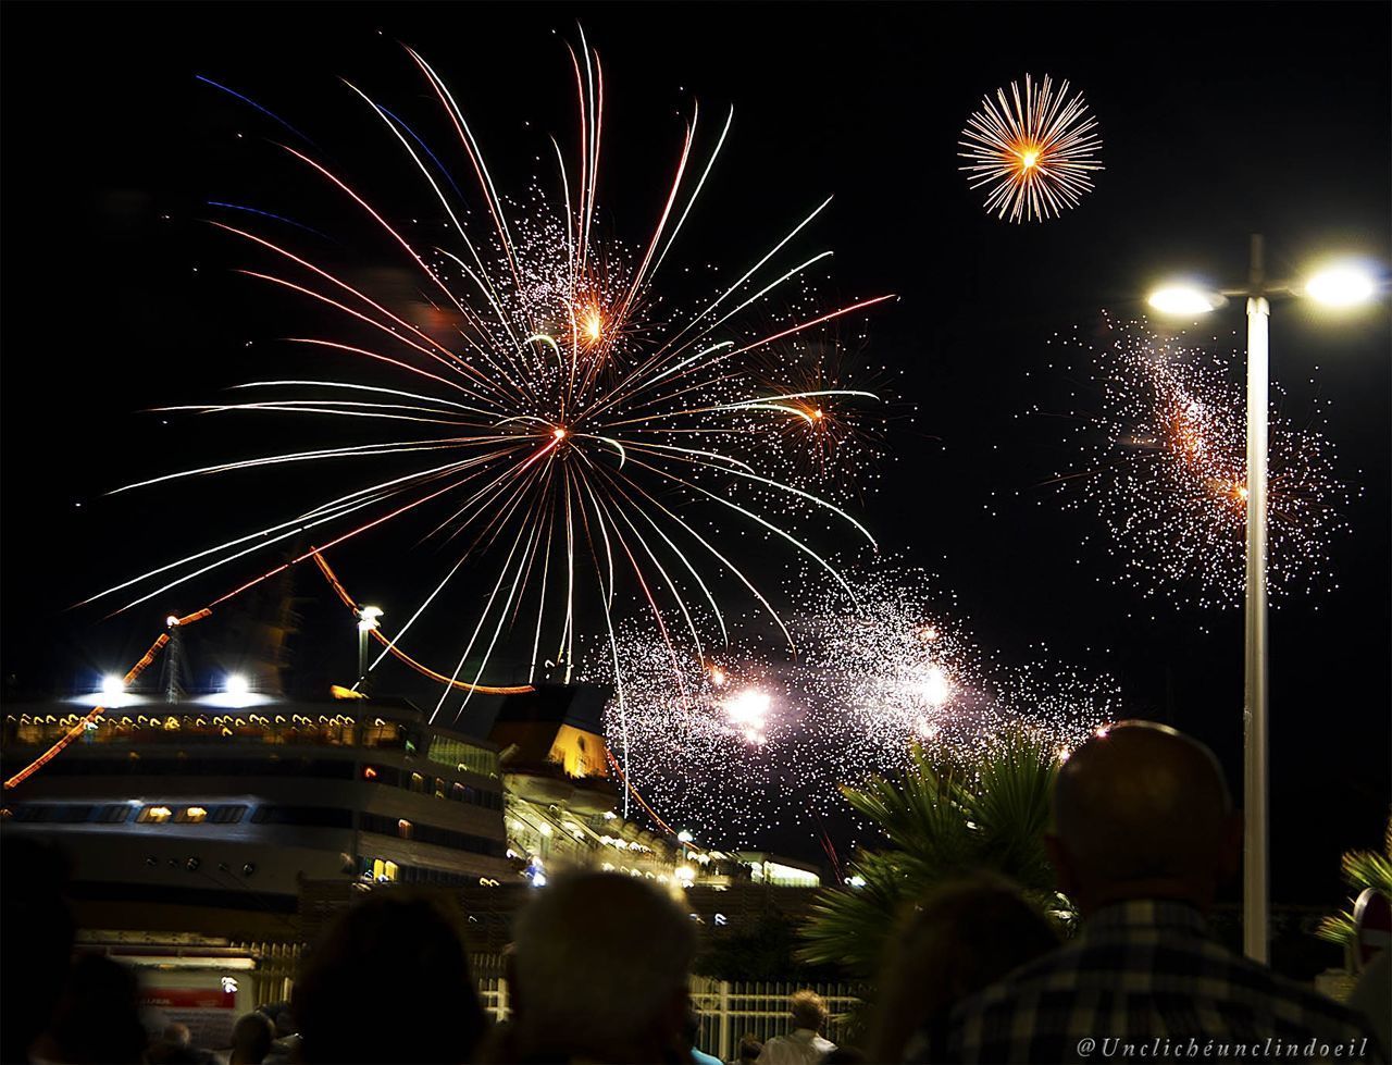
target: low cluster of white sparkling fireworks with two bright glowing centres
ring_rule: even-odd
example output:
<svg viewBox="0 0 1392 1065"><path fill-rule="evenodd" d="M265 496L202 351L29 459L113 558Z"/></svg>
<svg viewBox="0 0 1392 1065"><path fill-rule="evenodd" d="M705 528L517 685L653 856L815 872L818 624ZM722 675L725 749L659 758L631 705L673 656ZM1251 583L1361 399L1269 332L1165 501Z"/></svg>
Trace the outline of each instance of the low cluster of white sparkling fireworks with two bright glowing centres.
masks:
<svg viewBox="0 0 1392 1065"><path fill-rule="evenodd" d="M796 660L739 647L700 667L650 631L619 633L633 785L664 819L735 844L855 819L838 791L905 764L912 743L977 750L1023 728L1066 753L1121 713L1115 684L1031 649L1013 665L976 642L955 596L894 560L848 572L788 617ZM674 668L675 664L675 668ZM608 681L599 667L593 679Z"/></svg>

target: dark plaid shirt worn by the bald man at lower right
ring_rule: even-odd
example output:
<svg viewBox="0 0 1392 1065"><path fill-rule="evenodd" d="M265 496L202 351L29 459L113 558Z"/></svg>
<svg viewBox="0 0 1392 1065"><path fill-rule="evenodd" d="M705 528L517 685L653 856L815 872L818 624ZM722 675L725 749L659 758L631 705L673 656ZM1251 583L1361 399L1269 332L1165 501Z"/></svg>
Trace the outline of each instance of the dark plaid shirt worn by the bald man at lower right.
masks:
<svg viewBox="0 0 1392 1065"><path fill-rule="evenodd" d="M930 1046L916 1040L910 1059L926 1061ZM960 1002L945 1057L1385 1061L1357 1015L1221 947L1192 906L1150 899L1098 910L1076 941Z"/></svg>

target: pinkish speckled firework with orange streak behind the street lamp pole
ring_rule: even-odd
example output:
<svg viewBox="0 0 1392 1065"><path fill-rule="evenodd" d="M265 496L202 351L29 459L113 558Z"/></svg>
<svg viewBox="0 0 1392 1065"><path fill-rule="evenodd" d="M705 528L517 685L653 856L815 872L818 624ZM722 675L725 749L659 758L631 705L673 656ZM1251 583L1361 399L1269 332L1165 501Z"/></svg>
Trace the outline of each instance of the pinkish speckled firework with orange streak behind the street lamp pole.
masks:
<svg viewBox="0 0 1392 1065"><path fill-rule="evenodd" d="M1235 351L1183 347L1141 323L1108 322L1109 340L1063 341L1091 354L1100 409L1075 412L1080 451L1057 478L1066 505L1097 510L1123 571L1146 596L1231 607L1246 581L1246 407ZM1278 393L1279 398L1279 393ZM1329 582L1332 537L1350 490L1334 444L1313 425L1270 415L1268 567L1272 597Z"/></svg>

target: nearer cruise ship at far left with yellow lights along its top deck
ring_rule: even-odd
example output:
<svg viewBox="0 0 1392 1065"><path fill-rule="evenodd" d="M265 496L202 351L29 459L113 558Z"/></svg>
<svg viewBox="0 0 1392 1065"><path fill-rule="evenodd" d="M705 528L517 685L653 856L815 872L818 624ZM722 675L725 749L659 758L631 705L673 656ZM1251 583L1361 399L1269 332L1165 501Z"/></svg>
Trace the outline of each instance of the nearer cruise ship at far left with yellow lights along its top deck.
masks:
<svg viewBox="0 0 1392 1065"><path fill-rule="evenodd" d="M516 876L498 746L430 725L409 702L114 702L4 803L6 833L70 855L86 927L262 938L285 931L306 881ZM6 777L82 717L7 707Z"/></svg>

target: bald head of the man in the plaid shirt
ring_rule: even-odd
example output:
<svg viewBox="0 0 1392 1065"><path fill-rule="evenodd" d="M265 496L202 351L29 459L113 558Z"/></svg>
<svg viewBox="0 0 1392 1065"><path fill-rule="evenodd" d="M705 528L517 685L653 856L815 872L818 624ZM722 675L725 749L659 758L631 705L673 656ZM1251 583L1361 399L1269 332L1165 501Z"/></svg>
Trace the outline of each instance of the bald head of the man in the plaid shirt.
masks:
<svg viewBox="0 0 1392 1065"><path fill-rule="evenodd" d="M1055 865L1084 908L1143 897L1205 906L1231 871L1233 828L1212 752L1150 721L1089 739L1054 787Z"/></svg>

